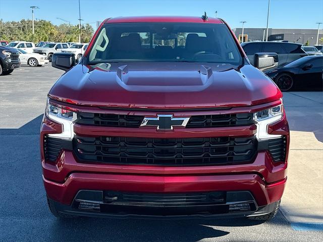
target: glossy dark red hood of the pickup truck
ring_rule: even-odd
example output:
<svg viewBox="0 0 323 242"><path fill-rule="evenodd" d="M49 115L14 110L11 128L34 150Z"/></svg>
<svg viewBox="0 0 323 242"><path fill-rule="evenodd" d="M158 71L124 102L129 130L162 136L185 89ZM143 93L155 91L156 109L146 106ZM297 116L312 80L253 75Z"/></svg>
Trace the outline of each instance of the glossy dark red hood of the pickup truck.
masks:
<svg viewBox="0 0 323 242"><path fill-rule="evenodd" d="M282 93L249 64L141 62L78 64L49 96L85 106L184 109L257 105L276 101Z"/></svg>

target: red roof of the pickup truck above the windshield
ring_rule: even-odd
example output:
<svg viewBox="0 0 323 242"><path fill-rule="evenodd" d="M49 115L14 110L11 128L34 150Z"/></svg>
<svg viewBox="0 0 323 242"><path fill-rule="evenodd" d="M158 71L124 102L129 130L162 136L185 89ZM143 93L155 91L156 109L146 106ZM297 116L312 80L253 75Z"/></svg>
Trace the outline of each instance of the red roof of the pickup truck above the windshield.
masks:
<svg viewBox="0 0 323 242"><path fill-rule="evenodd" d="M224 23L218 18L208 18L204 20L202 17L188 16L134 16L134 17L116 17L108 18L103 23L131 23L131 22L181 22L181 23Z"/></svg>

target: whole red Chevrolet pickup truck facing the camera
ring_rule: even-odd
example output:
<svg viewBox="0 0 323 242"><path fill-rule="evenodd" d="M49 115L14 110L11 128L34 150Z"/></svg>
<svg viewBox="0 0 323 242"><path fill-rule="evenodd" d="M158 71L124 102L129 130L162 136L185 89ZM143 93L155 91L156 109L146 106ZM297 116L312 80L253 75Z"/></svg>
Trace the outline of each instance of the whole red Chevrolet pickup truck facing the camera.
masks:
<svg viewBox="0 0 323 242"><path fill-rule="evenodd" d="M256 66L277 63L256 55ZM275 216L286 184L282 93L222 19L102 22L48 93L41 164L57 217Z"/></svg>

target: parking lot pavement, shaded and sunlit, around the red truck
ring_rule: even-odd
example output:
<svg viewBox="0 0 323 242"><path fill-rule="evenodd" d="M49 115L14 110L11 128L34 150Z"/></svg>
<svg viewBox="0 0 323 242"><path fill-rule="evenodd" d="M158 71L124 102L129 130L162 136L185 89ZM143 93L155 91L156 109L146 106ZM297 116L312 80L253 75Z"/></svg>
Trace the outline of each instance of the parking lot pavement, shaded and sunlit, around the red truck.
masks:
<svg viewBox="0 0 323 242"><path fill-rule="evenodd" d="M60 220L47 208L39 159L46 94L63 71L21 67L0 76L0 241L322 241L323 92L285 92L288 184L270 222L246 219Z"/></svg>

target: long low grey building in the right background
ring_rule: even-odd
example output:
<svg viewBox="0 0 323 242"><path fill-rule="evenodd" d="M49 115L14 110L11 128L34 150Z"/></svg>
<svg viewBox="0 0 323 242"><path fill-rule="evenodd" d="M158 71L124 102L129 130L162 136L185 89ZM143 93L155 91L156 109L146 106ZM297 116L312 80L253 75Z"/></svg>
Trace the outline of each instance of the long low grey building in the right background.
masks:
<svg viewBox="0 0 323 242"><path fill-rule="evenodd" d="M242 40L242 28L235 28L233 32L237 38ZM243 31L245 41L263 41L266 38L265 28L244 28ZM323 30L319 30L318 39L323 37ZM315 45L317 38L317 29L268 29L268 41L288 41L305 44L309 41L309 45ZM318 40L318 44L323 45Z"/></svg>

